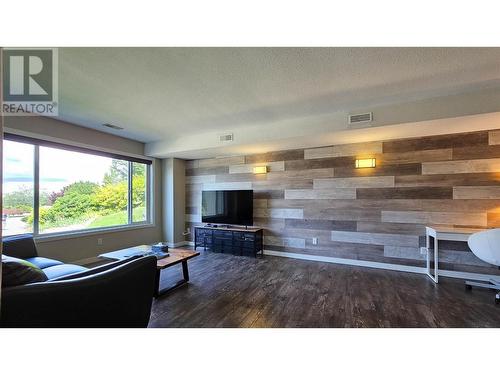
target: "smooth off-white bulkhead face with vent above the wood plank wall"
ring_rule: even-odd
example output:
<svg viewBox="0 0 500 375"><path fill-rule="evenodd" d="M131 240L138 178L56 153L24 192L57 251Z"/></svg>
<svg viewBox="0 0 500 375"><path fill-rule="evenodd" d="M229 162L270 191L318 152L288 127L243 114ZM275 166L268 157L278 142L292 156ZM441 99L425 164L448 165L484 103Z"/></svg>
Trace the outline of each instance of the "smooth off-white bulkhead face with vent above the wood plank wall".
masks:
<svg viewBox="0 0 500 375"><path fill-rule="evenodd" d="M373 112L368 127L347 124L349 113ZM500 89L464 93L376 108L360 108L308 118L294 118L272 124L227 129L234 142L221 145L222 131L186 135L146 144L146 155L184 159L254 154L292 148L311 148L425 135L459 133L500 128ZM480 120L484 114L483 123ZM459 119L462 119L459 121Z"/></svg>

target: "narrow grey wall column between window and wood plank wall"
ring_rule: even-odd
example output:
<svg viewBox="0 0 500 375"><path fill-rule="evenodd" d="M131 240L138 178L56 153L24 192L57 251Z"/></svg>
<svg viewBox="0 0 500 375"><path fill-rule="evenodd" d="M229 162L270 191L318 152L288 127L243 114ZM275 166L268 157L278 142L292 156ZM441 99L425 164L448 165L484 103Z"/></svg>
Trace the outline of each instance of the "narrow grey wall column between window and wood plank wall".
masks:
<svg viewBox="0 0 500 375"><path fill-rule="evenodd" d="M163 159L163 237L173 246L184 242L185 161Z"/></svg>

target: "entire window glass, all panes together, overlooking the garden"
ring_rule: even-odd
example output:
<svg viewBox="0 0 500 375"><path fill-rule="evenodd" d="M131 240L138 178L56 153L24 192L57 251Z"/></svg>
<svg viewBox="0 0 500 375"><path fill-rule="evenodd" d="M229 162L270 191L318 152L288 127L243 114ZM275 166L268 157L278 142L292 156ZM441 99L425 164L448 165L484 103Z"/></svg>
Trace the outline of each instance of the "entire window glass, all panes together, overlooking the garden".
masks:
<svg viewBox="0 0 500 375"><path fill-rule="evenodd" d="M150 162L46 143L7 140L4 145L5 236L74 232L150 221Z"/></svg>

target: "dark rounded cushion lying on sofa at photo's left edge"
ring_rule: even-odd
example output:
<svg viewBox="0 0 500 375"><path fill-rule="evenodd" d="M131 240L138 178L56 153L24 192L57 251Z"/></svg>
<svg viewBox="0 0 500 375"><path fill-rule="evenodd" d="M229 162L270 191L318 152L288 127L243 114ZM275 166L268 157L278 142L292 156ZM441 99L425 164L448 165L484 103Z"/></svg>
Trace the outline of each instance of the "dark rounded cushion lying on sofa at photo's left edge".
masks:
<svg viewBox="0 0 500 375"><path fill-rule="evenodd" d="M45 273L24 259L2 255L2 287L47 281Z"/></svg>

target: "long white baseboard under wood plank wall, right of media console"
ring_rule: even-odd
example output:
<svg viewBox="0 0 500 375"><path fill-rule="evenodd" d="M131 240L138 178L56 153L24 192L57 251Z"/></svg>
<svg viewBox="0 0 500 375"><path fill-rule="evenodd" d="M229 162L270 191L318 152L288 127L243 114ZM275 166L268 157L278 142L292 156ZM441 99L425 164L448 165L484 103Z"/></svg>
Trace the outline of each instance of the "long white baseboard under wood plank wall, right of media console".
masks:
<svg viewBox="0 0 500 375"><path fill-rule="evenodd" d="M275 250L264 250L264 254L278 256L278 257L285 257L285 258L312 260L315 262L326 262L326 263L344 264L348 266L369 267L369 268L378 268L391 271L419 273L423 275L427 273L425 267L405 266L402 264L370 262L366 260L334 258L334 257L325 257L321 255L298 254L298 253L289 253L285 251L275 251ZM439 276L453 277L457 279L489 281L492 277L496 275L439 270Z"/></svg>

